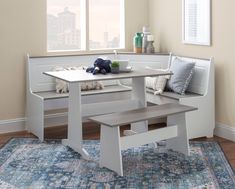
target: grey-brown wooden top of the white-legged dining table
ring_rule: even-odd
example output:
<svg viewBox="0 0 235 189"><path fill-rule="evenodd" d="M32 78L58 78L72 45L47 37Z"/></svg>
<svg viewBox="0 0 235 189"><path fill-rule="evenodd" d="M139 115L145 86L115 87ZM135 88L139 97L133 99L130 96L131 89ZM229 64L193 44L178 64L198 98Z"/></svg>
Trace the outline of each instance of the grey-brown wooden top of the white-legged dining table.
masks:
<svg viewBox="0 0 235 189"><path fill-rule="evenodd" d="M133 69L131 72L128 73L118 73L118 74L108 73L105 75L103 74L93 75L92 73L87 73L85 70L50 71L50 72L44 72L44 74L57 79L61 79L69 83L74 83L74 82L172 75L172 72L142 68L142 69Z"/></svg>

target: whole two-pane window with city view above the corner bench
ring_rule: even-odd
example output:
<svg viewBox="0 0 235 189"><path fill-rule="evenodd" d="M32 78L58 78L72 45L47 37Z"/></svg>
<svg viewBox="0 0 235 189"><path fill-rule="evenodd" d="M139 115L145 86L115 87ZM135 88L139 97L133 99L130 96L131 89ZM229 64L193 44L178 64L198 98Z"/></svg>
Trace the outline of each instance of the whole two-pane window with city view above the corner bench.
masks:
<svg viewBox="0 0 235 189"><path fill-rule="evenodd" d="M48 51L124 48L124 0L47 0Z"/></svg>

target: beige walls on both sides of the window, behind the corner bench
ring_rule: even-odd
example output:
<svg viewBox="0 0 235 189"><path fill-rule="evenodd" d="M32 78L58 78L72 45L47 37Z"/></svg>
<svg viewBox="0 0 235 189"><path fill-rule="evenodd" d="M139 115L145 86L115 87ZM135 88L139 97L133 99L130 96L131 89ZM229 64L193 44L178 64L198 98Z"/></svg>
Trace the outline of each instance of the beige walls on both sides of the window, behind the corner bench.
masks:
<svg viewBox="0 0 235 189"><path fill-rule="evenodd" d="M125 0L126 47L149 24L162 52L215 57L216 120L235 126L235 1L212 0L212 46L181 43L181 0ZM149 11L149 13L148 13ZM24 117L25 54L46 55L46 0L0 1L0 120ZM159 48L160 47L160 48Z"/></svg>

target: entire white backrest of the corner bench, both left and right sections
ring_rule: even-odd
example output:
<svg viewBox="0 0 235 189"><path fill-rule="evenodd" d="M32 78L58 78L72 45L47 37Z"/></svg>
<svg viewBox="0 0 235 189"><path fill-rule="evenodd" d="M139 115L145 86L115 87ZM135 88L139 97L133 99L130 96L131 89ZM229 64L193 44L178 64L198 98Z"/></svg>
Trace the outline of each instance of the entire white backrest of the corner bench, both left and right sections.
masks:
<svg viewBox="0 0 235 189"><path fill-rule="evenodd" d="M46 57L29 57L27 62L28 70L28 87L33 92L55 90L55 79L43 74L45 71L51 71L56 66L89 66L98 57L107 57L111 60L129 60L130 65L134 68L151 67L151 68L167 68L169 66L168 54L95 54L95 55L76 55L76 56L46 56ZM170 62L174 61L176 56L172 56ZM214 65L210 59L197 59L180 57L188 62L195 62L195 72L189 84L189 92L204 95L214 79ZM115 85L116 80L105 81L104 85ZM131 80L124 80L124 84L130 84Z"/></svg>

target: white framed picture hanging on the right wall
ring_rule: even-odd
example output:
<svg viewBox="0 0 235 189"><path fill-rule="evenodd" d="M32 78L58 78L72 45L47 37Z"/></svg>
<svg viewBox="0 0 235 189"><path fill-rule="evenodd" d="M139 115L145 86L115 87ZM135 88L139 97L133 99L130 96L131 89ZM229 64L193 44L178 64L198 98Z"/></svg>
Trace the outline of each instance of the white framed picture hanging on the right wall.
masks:
<svg viewBox="0 0 235 189"><path fill-rule="evenodd" d="M183 42L210 45L210 0L183 0Z"/></svg>

